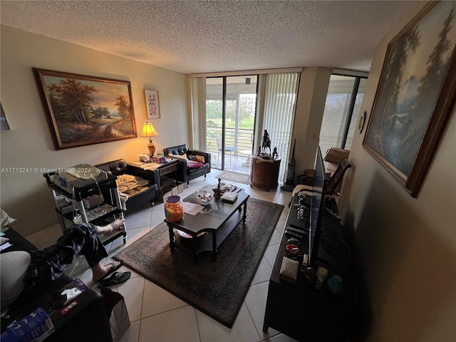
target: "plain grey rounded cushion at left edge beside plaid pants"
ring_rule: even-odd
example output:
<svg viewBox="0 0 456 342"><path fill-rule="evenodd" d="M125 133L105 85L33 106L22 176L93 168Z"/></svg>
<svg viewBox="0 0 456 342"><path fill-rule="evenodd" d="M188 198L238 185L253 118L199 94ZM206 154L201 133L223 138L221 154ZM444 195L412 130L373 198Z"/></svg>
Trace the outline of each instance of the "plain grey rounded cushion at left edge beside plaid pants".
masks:
<svg viewBox="0 0 456 342"><path fill-rule="evenodd" d="M30 265L30 254L13 251L0 254L1 311L7 309L24 289L24 277Z"/></svg>

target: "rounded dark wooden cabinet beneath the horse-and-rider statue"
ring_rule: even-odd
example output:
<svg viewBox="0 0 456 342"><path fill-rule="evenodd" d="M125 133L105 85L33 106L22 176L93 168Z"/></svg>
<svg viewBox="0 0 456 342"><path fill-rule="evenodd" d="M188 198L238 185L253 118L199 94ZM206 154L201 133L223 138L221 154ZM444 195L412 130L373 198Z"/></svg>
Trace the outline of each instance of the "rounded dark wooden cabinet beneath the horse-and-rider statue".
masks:
<svg viewBox="0 0 456 342"><path fill-rule="evenodd" d="M266 189L266 191L277 187L279 185L280 162L280 157L276 158L276 160L268 160L252 155L250 186Z"/></svg>

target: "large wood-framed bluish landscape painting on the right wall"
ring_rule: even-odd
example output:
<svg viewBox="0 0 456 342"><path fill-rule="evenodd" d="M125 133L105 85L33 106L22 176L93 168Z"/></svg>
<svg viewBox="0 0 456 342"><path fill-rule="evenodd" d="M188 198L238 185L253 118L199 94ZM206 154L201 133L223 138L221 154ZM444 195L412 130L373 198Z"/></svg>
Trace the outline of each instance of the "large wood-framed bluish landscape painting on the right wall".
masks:
<svg viewBox="0 0 456 342"><path fill-rule="evenodd" d="M416 197L455 103L455 1L432 1L388 44L363 147Z"/></svg>

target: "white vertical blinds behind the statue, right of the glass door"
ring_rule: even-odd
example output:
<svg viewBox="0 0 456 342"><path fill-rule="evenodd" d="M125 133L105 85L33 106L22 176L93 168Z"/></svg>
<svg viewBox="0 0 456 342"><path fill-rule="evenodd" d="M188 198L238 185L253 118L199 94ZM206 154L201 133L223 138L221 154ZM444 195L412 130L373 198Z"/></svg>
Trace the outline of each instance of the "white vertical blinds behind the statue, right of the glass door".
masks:
<svg viewBox="0 0 456 342"><path fill-rule="evenodd" d="M267 130L271 138L271 149L277 147L282 158L279 182L284 180L286 160L289 157L299 75L300 73L269 73L266 76L263 130L258 135L262 136L263 131Z"/></svg>

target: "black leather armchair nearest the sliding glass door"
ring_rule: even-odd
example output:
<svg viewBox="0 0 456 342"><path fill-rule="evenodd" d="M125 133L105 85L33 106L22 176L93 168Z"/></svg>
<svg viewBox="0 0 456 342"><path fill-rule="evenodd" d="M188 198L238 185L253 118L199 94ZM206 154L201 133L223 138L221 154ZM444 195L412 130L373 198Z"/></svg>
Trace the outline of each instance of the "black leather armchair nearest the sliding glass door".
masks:
<svg viewBox="0 0 456 342"><path fill-rule="evenodd" d="M204 176L211 172L211 154L200 150L192 150L187 145L165 147L165 157L179 160L178 181L190 184L190 180Z"/></svg>

